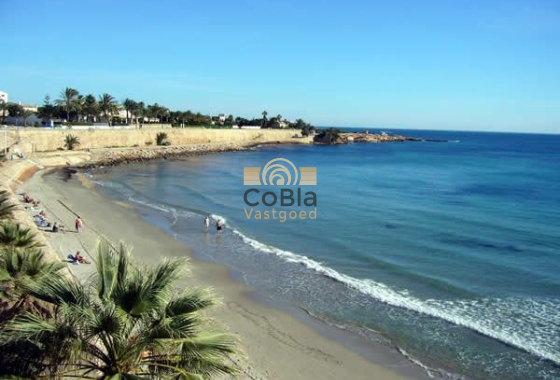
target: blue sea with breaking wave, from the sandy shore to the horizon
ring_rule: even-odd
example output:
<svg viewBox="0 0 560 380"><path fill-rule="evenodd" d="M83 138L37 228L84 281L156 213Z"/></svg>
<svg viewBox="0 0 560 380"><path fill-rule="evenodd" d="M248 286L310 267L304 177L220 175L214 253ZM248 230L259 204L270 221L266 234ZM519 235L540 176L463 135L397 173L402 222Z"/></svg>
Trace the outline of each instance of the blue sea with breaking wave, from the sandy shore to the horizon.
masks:
<svg viewBox="0 0 560 380"><path fill-rule="evenodd" d="M560 379L560 135L386 132L444 141L263 145L88 175L260 297L389 342L430 378ZM244 185L276 158L315 167L317 184ZM301 188L301 206L280 188Z"/></svg>

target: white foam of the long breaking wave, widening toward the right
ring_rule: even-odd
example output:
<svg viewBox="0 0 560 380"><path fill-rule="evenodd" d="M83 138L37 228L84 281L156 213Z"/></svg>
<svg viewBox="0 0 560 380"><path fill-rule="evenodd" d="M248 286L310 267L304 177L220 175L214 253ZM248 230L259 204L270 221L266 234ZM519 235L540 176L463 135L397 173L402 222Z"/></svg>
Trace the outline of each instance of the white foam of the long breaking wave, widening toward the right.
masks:
<svg viewBox="0 0 560 380"><path fill-rule="evenodd" d="M476 300L422 300L407 290L391 288L371 279L357 279L337 272L304 255L281 250L251 239L237 230L243 242L287 262L298 263L367 294L386 304L430 315L477 331L541 358L560 364L560 337L555 321L560 300L535 301L520 298Z"/></svg>

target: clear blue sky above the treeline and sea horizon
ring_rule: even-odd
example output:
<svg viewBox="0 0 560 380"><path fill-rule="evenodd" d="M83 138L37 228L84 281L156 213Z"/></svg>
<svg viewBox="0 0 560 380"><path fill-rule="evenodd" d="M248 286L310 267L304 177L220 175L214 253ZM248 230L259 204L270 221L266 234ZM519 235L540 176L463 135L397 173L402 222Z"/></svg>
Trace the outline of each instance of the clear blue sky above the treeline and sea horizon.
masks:
<svg viewBox="0 0 560 380"><path fill-rule="evenodd" d="M560 1L0 0L0 91L560 133Z"/></svg>

